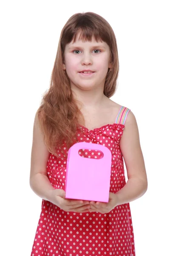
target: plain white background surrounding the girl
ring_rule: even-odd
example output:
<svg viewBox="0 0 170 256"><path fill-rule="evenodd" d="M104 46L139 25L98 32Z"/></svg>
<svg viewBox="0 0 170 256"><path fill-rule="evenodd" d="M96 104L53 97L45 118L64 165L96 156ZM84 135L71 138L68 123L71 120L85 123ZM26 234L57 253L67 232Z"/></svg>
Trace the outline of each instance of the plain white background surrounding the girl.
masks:
<svg viewBox="0 0 170 256"><path fill-rule="evenodd" d="M120 71L113 101L139 126L148 177L132 202L136 256L170 255L169 1L3 1L0 4L0 233L2 256L30 256L41 199L29 186L32 131L49 87L60 32L71 15L96 12L116 35ZM113 120L114 122L114 120Z"/></svg>

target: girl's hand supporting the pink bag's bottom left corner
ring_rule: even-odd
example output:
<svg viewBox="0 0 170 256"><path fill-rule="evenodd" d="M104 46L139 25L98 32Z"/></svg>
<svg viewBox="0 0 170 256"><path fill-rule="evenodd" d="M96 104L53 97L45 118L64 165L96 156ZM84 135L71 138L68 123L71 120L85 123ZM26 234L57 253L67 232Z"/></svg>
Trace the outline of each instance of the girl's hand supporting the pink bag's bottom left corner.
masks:
<svg viewBox="0 0 170 256"><path fill-rule="evenodd" d="M89 201L65 199L63 189L52 190L49 201L65 212L89 212L91 208Z"/></svg>

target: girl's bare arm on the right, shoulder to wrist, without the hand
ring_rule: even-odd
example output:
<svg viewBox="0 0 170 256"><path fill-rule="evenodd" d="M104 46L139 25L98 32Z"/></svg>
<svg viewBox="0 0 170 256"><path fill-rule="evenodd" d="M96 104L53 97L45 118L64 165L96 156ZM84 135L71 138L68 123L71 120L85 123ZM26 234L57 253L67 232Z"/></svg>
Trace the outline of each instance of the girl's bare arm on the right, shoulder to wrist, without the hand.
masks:
<svg viewBox="0 0 170 256"><path fill-rule="evenodd" d="M147 191L147 175L139 141L139 131L136 118L131 111L127 116L120 148L125 160L128 180L126 185L115 194L118 198L117 205L134 201Z"/></svg>

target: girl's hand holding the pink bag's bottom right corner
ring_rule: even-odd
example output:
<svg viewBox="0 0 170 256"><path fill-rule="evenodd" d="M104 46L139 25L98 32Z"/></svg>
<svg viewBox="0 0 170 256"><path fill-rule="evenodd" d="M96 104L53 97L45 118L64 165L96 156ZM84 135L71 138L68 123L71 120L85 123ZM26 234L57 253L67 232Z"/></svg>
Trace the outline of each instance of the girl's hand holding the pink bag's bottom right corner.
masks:
<svg viewBox="0 0 170 256"><path fill-rule="evenodd" d="M113 210L117 205L119 205L117 195L110 192L108 203L90 201L91 208L89 209L89 212L100 212L104 214Z"/></svg>

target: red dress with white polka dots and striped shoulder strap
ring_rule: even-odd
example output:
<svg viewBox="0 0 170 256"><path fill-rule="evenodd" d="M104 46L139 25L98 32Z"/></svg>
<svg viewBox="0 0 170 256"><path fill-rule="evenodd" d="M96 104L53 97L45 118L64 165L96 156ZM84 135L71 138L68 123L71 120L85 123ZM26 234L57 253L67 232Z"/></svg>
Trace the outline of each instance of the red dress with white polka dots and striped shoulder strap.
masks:
<svg viewBox="0 0 170 256"><path fill-rule="evenodd" d="M77 130L77 142L98 143L112 153L110 192L125 186L124 164L119 142L130 109L121 107L116 122L89 131ZM65 153L66 147L64 147ZM55 189L65 189L67 159L50 154L48 178ZM99 157L97 152L79 152L86 157ZM96 154L96 155L95 155ZM129 204L115 207L107 214L99 212L65 212L42 200L42 210L31 256L135 256L133 226Z"/></svg>

